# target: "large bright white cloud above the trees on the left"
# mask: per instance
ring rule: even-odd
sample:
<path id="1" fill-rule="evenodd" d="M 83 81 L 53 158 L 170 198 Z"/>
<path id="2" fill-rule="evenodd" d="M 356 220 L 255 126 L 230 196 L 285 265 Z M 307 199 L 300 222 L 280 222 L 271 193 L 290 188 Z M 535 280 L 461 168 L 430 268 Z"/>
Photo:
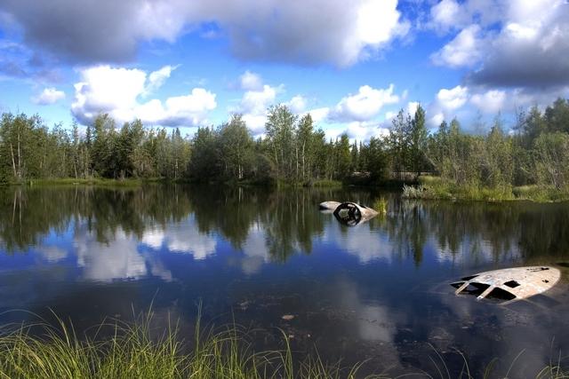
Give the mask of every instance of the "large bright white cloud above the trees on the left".
<path id="1" fill-rule="evenodd" d="M 138 68 L 97 66 L 81 70 L 82 81 L 75 84 L 71 111 L 83 123 L 108 113 L 117 122 L 142 122 L 164 126 L 197 126 L 217 107 L 215 94 L 194 88 L 187 95 L 140 102 L 149 88 L 164 83 L 172 67 L 163 67 L 147 78 Z"/>

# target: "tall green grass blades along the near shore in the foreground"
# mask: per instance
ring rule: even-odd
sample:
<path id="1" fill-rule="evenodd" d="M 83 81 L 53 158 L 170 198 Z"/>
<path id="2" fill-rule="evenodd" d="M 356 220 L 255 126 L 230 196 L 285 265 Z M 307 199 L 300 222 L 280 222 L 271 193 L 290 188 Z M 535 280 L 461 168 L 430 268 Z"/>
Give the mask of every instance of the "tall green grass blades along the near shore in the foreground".
<path id="1" fill-rule="evenodd" d="M 361 365 L 327 365 L 316 353 L 301 362 L 293 361 L 293 352 L 283 334 L 285 347 L 277 351 L 252 350 L 252 343 L 241 328 L 230 326 L 214 331 L 200 327 L 199 319 L 193 341 L 180 340 L 176 325 L 162 331 L 151 328 L 152 313 L 134 323 L 111 320 L 94 329 L 91 337 L 76 336 L 73 327 L 62 320 L 52 327 L 46 323 L 0 331 L 0 378 L 355 378 Z M 38 335 L 32 328 L 40 328 Z M 110 332 L 110 334 L 109 334 Z M 157 332 L 157 333 L 156 333 Z M 105 336 L 102 336 L 105 335 Z M 446 367 L 445 359 L 435 351 L 431 359 L 436 368 L 402 376 L 465 378 L 471 375 L 468 361 L 460 373 Z M 519 354 L 521 355 L 521 353 Z M 519 357 L 518 355 L 518 357 Z M 517 357 L 517 358 L 518 358 Z M 552 362 L 536 378 L 569 378 L 569 373 Z M 483 377 L 508 377 L 493 372 L 493 363 L 485 367 Z M 385 374 L 367 378 L 386 378 Z"/>

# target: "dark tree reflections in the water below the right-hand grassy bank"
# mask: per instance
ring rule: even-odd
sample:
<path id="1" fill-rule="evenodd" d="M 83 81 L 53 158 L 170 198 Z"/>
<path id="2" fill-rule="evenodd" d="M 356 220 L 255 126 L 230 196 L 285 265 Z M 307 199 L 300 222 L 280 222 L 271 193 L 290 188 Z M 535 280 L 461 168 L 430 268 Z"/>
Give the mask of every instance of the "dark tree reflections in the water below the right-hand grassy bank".
<path id="1" fill-rule="evenodd" d="M 412 255 L 417 265 L 433 239 L 452 260 L 467 255 L 480 263 L 509 257 L 567 257 L 569 204 L 404 201 L 393 198 L 381 226 L 395 241 L 395 253 Z"/>

